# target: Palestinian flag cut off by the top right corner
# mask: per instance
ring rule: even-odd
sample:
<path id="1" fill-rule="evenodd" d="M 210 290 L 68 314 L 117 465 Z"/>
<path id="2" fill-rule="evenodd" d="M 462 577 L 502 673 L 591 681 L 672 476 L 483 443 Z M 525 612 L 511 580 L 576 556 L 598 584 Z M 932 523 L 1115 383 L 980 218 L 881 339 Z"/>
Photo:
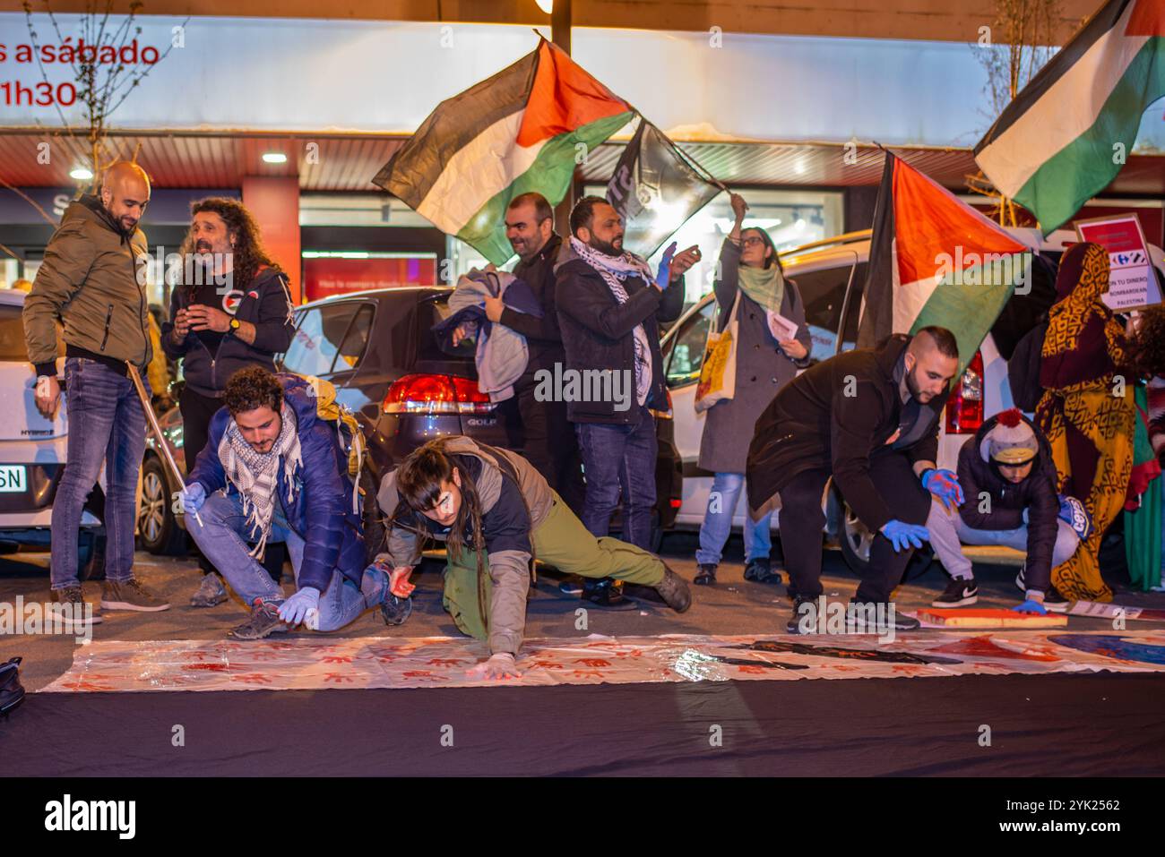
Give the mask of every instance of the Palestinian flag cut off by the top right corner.
<path id="1" fill-rule="evenodd" d="M 1165 95 L 1165 0 L 1109 0 L 975 147 L 991 183 L 1044 234 L 1103 190 Z"/>

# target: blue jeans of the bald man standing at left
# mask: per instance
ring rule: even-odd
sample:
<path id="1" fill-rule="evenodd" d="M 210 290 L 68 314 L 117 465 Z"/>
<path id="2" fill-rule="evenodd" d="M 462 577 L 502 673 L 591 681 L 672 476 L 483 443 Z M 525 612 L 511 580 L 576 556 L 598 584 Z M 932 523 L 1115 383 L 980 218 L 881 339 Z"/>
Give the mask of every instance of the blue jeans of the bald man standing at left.
<path id="1" fill-rule="evenodd" d="M 149 381 L 142 376 L 149 395 Z M 69 441 L 52 498 L 51 586 L 80 586 L 77 550 L 85 500 L 105 461 L 105 576 L 125 581 L 134 568 L 137 473 L 146 452 L 146 413 L 125 374 L 85 357 L 65 360 Z"/>

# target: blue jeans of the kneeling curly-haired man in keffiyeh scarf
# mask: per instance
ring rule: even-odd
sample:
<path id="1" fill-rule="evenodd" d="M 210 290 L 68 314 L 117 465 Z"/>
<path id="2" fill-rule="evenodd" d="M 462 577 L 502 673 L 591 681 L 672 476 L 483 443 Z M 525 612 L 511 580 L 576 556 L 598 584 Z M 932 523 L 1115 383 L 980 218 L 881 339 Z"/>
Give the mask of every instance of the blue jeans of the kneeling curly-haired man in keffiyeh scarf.
<path id="1" fill-rule="evenodd" d="M 248 553 L 247 539 L 250 538 L 250 526 L 242 514 L 242 498 L 239 494 L 214 491 L 198 510 L 198 517 L 203 519 L 200 526 L 198 518 L 193 515 L 186 516 L 186 531 L 235 594 L 248 607 L 254 604 L 255 599 L 282 602 L 283 589 L 271 580 L 263 565 Z M 278 504 L 275 507 L 275 518 L 267 540 L 287 543 L 298 586 L 299 566 L 303 562 L 303 538 L 288 526 Z M 327 590 L 319 595 L 319 630 L 334 631 L 344 628 L 363 612 L 366 607 L 360 588 L 336 569 L 332 572 Z"/>

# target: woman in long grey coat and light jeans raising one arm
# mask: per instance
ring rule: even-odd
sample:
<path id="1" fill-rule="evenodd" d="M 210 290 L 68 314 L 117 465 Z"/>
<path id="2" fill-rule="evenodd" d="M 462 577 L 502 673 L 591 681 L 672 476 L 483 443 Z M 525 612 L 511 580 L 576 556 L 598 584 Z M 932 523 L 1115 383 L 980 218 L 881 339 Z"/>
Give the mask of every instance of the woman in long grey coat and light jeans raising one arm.
<path id="1" fill-rule="evenodd" d="M 732 532 L 733 514 L 744 488 L 744 461 L 753 440 L 753 425 L 777 390 L 791 381 L 798 369 L 809 366 L 811 346 L 805 305 L 797 285 L 785 279 L 772 239 L 764 229 L 741 229 L 747 206 L 735 193 L 732 194 L 732 208 L 736 222 L 720 250 L 715 293 L 720 309 L 716 330 L 728 325 L 733 304 L 740 296 L 736 388 L 732 398 L 718 402 L 707 411 L 700 439 L 699 466 L 715 474 L 700 526 L 700 547 L 696 552 L 699 564 L 696 582 L 701 585 L 715 582 L 716 566 Z M 792 337 L 779 332 L 778 316 L 797 326 Z M 769 512 L 753 520 L 746 511 L 746 580 L 781 580 L 769 566 L 771 517 Z"/>

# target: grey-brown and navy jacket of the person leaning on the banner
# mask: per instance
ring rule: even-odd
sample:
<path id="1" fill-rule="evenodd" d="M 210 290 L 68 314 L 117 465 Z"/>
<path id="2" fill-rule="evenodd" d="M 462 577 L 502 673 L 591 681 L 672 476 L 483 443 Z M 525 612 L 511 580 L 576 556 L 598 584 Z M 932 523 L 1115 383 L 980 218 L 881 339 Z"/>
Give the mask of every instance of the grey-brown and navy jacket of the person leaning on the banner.
<path id="1" fill-rule="evenodd" d="M 509 449 L 452 435 L 446 440 L 445 453 L 473 480 L 481 501 L 481 536 L 493 582 L 489 651 L 517 654 L 525 631 L 525 596 L 534 557 L 531 534 L 550 515 L 553 493 L 529 461 Z M 449 527 L 419 512 L 398 509 L 396 470 L 384 476 L 376 501 L 386 516 L 396 515 L 388 536 L 388 551 L 379 554 L 377 560 L 390 561 L 394 566 L 415 566 L 418 561 L 417 532 L 440 541 L 449 538 Z M 471 532 L 463 534 L 463 544 L 473 544 Z"/>

